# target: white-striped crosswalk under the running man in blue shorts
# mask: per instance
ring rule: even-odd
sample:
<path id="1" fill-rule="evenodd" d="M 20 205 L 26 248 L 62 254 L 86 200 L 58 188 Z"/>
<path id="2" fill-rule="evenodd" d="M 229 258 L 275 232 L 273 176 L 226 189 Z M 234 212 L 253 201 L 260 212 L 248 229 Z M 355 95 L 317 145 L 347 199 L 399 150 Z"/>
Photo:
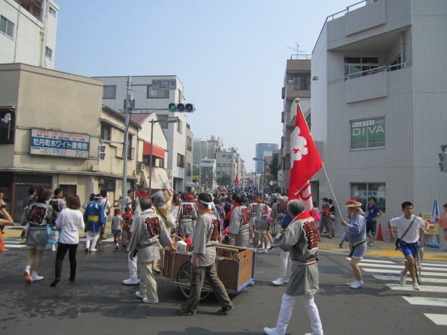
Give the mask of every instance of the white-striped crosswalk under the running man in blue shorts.
<path id="1" fill-rule="evenodd" d="M 348 258 L 349 259 L 349 258 Z M 404 269 L 404 262 L 393 262 L 390 260 L 363 259 L 359 263 L 362 271 L 371 274 L 379 281 L 384 281 L 390 290 L 402 292 L 402 295 L 409 304 L 414 306 L 427 306 L 428 308 L 447 308 L 447 265 L 439 263 L 422 263 L 422 285 L 420 291 L 414 291 L 412 285 L 400 285 L 400 272 Z M 407 275 L 407 283 L 411 281 Z M 413 292 L 414 296 L 409 297 L 408 292 Z M 430 293 L 435 293 L 437 297 L 430 297 Z M 443 297 L 446 297 L 444 298 Z M 442 310 L 444 312 L 444 310 Z M 447 325 L 446 313 L 423 313 L 436 325 Z"/>

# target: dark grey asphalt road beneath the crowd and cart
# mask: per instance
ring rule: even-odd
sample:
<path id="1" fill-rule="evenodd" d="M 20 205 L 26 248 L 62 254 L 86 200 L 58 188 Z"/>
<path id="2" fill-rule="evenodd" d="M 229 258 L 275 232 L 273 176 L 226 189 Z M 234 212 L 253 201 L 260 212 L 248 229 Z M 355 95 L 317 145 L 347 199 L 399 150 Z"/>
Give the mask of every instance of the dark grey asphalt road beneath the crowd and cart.
<path id="1" fill-rule="evenodd" d="M 15 237 L 6 239 L 17 243 Z M 256 255 L 255 285 L 231 296 L 235 309 L 228 315 L 217 315 L 219 304 L 210 297 L 201 301 L 197 315 L 178 316 L 175 311 L 184 303 L 184 297 L 163 276 L 157 275 L 160 303 L 143 304 L 135 297 L 138 286 L 122 285 L 122 280 L 128 278 L 125 251 L 116 251 L 108 242 L 102 251 L 89 255 L 82 249 L 81 245 L 76 281 L 68 281 L 67 255 L 61 282 L 55 288 L 50 288 L 50 283 L 56 253 L 45 251 L 39 271 L 45 278 L 31 285 L 23 279 L 27 248 L 16 245 L 0 254 L 0 334 L 251 335 L 262 334 L 263 327 L 274 327 L 276 323 L 285 286 L 274 287 L 270 281 L 277 278 L 279 251 Z M 345 285 L 352 278 L 346 254 L 322 251 L 320 256 L 321 292 L 316 304 L 326 335 L 446 334 L 447 326 L 437 325 L 424 315 L 446 315 L 446 306 L 412 305 L 403 297 L 445 299 L 447 292 L 428 292 L 428 287 L 420 292 L 392 290 L 386 284 L 397 281 L 383 281 L 366 271 L 365 287 L 352 290 Z M 379 261 L 377 258 L 377 265 L 381 265 Z M 383 269 L 383 274 L 401 269 L 400 261 L 388 259 L 390 270 Z M 447 278 L 436 285 L 447 288 Z M 309 319 L 298 300 L 288 334 L 310 331 Z"/>

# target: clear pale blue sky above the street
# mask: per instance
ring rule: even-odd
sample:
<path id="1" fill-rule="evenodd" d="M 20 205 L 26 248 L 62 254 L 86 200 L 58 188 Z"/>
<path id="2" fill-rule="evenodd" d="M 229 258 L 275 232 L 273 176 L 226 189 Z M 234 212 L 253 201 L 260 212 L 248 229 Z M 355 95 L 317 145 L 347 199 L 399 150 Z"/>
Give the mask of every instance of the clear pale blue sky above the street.
<path id="1" fill-rule="evenodd" d="M 221 137 L 254 171 L 256 143 L 281 147 L 286 61 L 312 54 L 345 0 L 54 0 L 55 70 L 177 75 L 194 138 Z M 124 99 L 124 97 L 123 97 Z"/>

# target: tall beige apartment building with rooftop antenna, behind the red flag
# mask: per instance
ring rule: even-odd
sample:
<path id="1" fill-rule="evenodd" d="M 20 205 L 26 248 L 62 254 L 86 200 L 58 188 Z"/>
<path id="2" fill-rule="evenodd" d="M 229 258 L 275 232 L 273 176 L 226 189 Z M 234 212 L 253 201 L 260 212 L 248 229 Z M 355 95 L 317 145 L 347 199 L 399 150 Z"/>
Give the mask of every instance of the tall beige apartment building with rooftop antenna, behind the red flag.
<path id="1" fill-rule="evenodd" d="M 300 107 L 305 114 L 307 124 L 310 122 L 310 87 L 311 87 L 311 55 L 293 54 L 291 59 L 287 60 L 286 73 L 284 74 L 284 86 L 282 88 L 283 112 L 281 122 L 283 124 L 281 137 L 281 157 L 279 157 L 279 174 L 281 180 L 278 180 L 278 186 L 283 193 L 288 193 L 288 181 L 291 171 L 291 133 L 295 129 L 296 104 L 293 104 L 295 98 L 300 98 Z M 256 156 L 258 157 L 258 156 Z M 260 161 L 256 162 L 256 168 Z M 258 172 L 258 169 L 256 169 Z M 262 173 L 262 172 L 258 172 Z M 313 187 L 314 188 L 314 187 Z M 318 190 L 318 187 L 316 187 Z M 315 193 L 313 191 L 312 193 Z"/>

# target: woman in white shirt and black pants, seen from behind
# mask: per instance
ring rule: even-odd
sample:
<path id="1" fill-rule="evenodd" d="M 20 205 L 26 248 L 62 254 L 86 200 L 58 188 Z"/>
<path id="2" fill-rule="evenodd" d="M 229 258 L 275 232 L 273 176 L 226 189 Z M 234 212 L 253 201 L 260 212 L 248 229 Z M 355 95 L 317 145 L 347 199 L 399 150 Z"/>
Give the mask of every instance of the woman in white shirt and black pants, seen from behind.
<path id="1" fill-rule="evenodd" d="M 76 276 L 76 251 L 78 251 L 79 230 L 84 230 L 85 223 L 80 211 L 81 202 L 78 195 L 70 195 L 66 204 L 67 208 L 62 209 L 56 219 L 57 228 L 61 230 L 61 233 L 56 254 L 56 278 L 54 278 L 50 286 L 56 286 L 61 280 L 62 262 L 64 262 L 67 251 L 68 259 L 70 260 L 70 281 L 74 281 Z"/>

